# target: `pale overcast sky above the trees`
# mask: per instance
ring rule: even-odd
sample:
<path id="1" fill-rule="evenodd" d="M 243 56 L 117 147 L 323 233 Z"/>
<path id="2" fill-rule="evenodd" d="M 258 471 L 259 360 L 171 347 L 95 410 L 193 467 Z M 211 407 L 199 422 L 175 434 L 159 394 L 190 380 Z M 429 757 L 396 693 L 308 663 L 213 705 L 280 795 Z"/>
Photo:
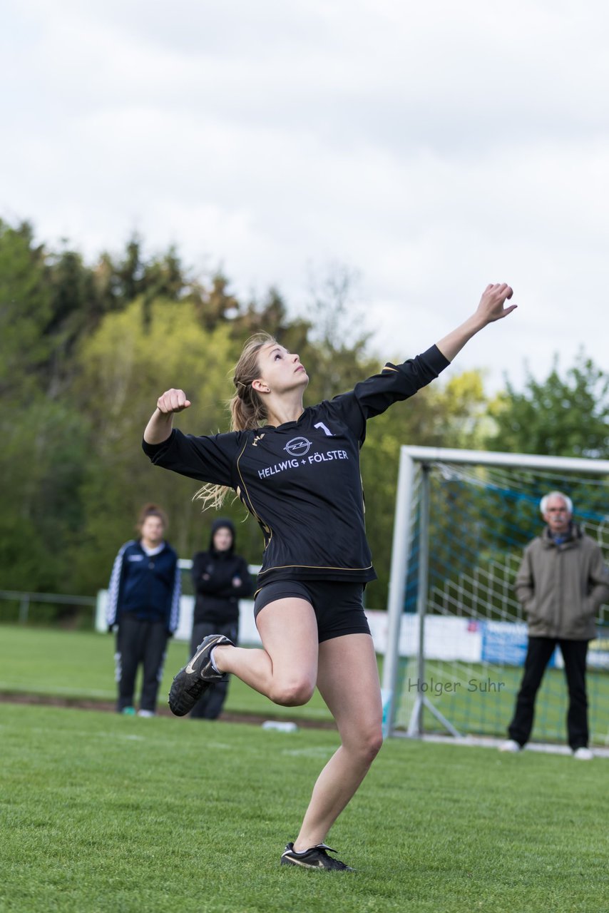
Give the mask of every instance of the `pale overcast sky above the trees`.
<path id="1" fill-rule="evenodd" d="M 0 216 L 92 260 L 133 231 L 306 306 L 358 270 L 373 348 L 413 355 L 488 282 L 519 309 L 460 368 L 607 370 L 601 0 L 5 0 Z M 182 379 L 176 379 L 176 383 Z"/>

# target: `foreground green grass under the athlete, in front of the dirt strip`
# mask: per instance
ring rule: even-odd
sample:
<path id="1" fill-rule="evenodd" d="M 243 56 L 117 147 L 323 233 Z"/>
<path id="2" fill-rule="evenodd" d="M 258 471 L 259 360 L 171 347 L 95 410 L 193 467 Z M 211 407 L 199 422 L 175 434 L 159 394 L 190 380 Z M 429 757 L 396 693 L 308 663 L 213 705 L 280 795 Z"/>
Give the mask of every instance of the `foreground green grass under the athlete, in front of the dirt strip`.
<path id="1" fill-rule="evenodd" d="M 279 866 L 335 732 L 5 704 L 0 744 L 3 913 L 609 908 L 604 761 L 389 740 L 350 874 Z"/>

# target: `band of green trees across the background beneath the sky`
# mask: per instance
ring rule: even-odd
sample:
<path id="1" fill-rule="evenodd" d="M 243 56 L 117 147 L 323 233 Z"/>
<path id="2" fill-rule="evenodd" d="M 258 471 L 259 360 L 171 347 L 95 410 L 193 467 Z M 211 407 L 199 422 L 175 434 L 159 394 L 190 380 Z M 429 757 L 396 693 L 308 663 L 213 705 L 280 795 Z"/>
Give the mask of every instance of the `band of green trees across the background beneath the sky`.
<path id="1" fill-rule="evenodd" d="M 294 316 L 278 289 L 239 299 L 222 272 L 201 278 L 175 247 L 149 256 L 133 236 L 119 255 L 87 263 L 68 244 L 38 243 L 27 222 L 0 221 L 0 589 L 95 593 L 146 501 L 167 510 L 181 557 L 203 548 L 213 518 L 193 502 L 196 484 L 142 454 L 157 395 L 187 389 L 185 432 L 226 430 L 230 371 L 258 330 L 299 352 L 307 402 L 350 389 L 381 363 L 353 320 L 350 283 L 347 270 L 331 269 L 311 289 L 306 316 Z M 581 352 L 571 367 L 557 358 L 545 380 L 529 374 L 521 390 L 506 380 L 492 397 L 482 373 L 453 372 L 376 418 L 362 450 L 380 577 L 368 605 L 386 603 L 402 444 L 606 457 L 608 416 L 609 375 Z M 255 521 L 229 500 L 224 512 L 239 551 L 257 563 Z"/>

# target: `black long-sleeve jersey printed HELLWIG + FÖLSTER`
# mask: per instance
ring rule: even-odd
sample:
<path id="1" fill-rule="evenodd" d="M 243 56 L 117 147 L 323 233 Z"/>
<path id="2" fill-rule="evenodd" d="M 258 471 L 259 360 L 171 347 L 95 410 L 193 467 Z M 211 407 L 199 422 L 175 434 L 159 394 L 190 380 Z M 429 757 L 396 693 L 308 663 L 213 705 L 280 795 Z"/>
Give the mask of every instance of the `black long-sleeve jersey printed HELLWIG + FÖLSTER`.
<path id="1" fill-rule="evenodd" d="M 307 407 L 295 422 L 196 437 L 173 430 L 145 441 L 152 463 L 234 488 L 264 534 L 258 587 L 276 580 L 374 580 L 359 452 L 366 421 L 434 380 L 448 361 L 436 346 Z"/>

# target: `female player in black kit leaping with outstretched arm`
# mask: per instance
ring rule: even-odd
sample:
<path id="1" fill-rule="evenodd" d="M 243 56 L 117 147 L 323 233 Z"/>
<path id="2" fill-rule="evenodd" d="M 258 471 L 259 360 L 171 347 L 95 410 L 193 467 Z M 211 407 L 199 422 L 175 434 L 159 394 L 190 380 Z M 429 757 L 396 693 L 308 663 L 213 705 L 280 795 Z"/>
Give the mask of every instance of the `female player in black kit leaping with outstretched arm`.
<path id="1" fill-rule="evenodd" d="M 516 307 L 505 305 L 511 295 L 506 284 L 489 285 L 475 313 L 427 352 L 308 408 L 299 356 L 258 334 L 236 365 L 233 431 L 173 430 L 173 414 L 190 406 L 175 389 L 159 397 L 146 426 L 143 449 L 153 463 L 207 483 L 201 497 L 215 505 L 235 490 L 265 539 L 255 601 L 262 649 L 205 637 L 173 679 L 173 713 L 183 716 L 210 682 L 232 673 L 288 707 L 306 704 L 317 685 L 336 720 L 341 746 L 315 783 L 283 865 L 349 869 L 323 841 L 382 744 L 376 656 L 362 609 L 363 587 L 376 576 L 359 466 L 366 421 L 430 383 L 475 333 L 507 317 Z"/>

